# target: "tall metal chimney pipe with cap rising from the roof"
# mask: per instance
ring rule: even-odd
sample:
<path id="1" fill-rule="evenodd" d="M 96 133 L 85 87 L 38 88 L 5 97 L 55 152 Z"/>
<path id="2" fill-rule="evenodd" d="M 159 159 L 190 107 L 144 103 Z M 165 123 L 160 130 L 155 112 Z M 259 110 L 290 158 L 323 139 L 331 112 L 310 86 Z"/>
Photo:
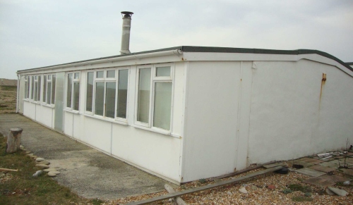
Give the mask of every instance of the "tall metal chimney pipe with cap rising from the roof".
<path id="1" fill-rule="evenodd" d="M 131 15 L 133 15 L 133 13 L 130 11 L 121 11 L 121 15 L 123 16 L 123 32 L 121 35 L 120 54 L 131 54 L 128 47 L 130 46 Z"/>

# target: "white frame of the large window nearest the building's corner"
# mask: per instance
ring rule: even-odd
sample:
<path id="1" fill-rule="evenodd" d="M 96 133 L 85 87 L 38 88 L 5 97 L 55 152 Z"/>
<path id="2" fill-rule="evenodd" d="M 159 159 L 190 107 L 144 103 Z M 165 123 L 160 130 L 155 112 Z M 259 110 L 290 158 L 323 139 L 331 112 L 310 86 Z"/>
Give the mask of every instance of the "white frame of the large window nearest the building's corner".
<path id="1" fill-rule="evenodd" d="M 160 76 L 157 77 L 157 68 L 160 67 L 170 67 L 170 76 Z M 138 91 L 139 91 L 139 82 L 140 82 L 140 69 L 151 68 L 151 77 L 150 77 L 150 106 L 149 106 L 149 115 L 148 123 L 143 123 L 138 121 Z M 171 82 L 172 83 L 172 99 L 171 99 L 171 110 L 170 110 L 170 125 L 169 130 L 164 130 L 163 128 L 157 128 L 154 126 L 154 111 L 155 111 L 155 83 L 156 82 Z M 172 119 L 173 119 L 173 99 L 174 99 L 174 63 L 158 63 L 150 64 L 144 66 L 137 66 L 136 68 L 136 95 L 135 95 L 135 116 L 134 116 L 134 125 L 137 125 L 139 128 L 153 130 L 160 132 L 162 134 L 170 135 L 172 132 Z"/>

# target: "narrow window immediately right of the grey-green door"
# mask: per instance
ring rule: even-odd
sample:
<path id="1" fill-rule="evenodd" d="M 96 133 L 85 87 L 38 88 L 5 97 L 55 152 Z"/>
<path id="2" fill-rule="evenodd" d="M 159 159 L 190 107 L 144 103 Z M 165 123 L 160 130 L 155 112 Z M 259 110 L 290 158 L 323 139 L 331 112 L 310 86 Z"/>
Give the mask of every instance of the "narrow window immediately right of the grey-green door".
<path id="1" fill-rule="evenodd" d="M 78 111 L 80 103 L 80 73 L 68 73 L 66 79 L 66 108 Z"/>

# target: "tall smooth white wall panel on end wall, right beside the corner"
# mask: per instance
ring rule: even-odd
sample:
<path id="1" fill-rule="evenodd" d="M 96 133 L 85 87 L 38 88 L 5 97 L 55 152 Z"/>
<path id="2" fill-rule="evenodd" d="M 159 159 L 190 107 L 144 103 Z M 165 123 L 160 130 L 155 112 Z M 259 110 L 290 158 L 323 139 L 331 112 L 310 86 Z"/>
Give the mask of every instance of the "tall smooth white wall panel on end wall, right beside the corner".
<path id="1" fill-rule="evenodd" d="M 234 171 L 240 62 L 190 62 L 183 182 Z"/>

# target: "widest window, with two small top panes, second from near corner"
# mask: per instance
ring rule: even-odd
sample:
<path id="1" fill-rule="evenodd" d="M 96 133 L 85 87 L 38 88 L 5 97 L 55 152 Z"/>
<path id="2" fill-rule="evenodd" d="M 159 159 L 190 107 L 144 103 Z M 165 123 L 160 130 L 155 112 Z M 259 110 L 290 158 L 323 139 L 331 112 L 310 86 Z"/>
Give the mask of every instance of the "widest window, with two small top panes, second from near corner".
<path id="1" fill-rule="evenodd" d="M 126 119 L 128 69 L 88 72 L 86 87 L 86 112 Z"/>

